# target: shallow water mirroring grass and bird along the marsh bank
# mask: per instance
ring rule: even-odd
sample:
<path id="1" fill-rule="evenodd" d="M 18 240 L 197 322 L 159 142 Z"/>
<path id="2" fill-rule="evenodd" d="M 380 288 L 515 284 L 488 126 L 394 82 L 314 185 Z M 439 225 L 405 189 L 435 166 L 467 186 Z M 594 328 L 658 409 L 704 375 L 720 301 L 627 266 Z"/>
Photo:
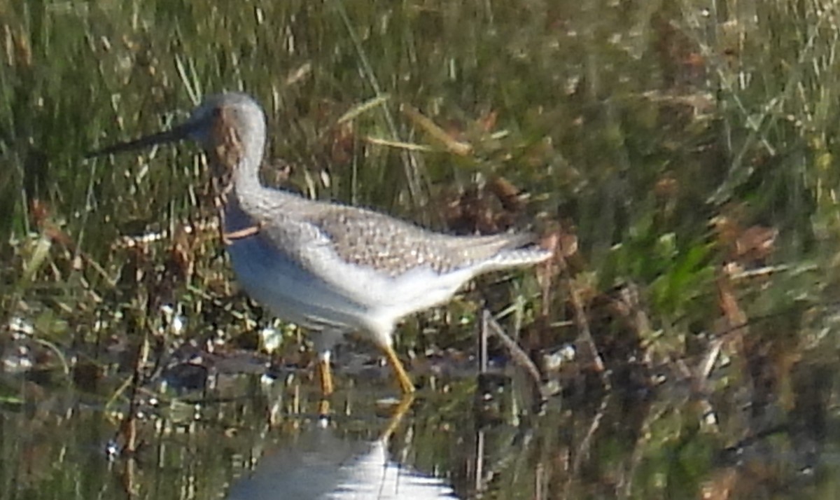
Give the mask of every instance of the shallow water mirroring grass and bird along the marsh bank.
<path id="1" fill-rule="evenodd" d="M 169 403 L 140 397 L 139 445 L 129 455 L 119 452 L 124 414 L 103 411 L 101 399 L 6 379 L 24 400 L 0 413 L 2 497 L 784 497 L 798 488 L 800 496 L 828 498 L 836 491 L 838 434 L 826 420 L 831 409 L 820 406 L 833 396 L 820 388 L 787 413 L 758 415 L 663 386 L 555 396 L 536 414 L 515 394 L 522 380 L 500 380 L 507 388 L 482 405 L 474 383 L 460 380 L 444 392 L 419 392 L 395 414 L 390 387 L 362 380 L 379 388 L 357 389 L 342 378 L 330 417 L 319 418 L 312 386 L 230 376 Z"/>

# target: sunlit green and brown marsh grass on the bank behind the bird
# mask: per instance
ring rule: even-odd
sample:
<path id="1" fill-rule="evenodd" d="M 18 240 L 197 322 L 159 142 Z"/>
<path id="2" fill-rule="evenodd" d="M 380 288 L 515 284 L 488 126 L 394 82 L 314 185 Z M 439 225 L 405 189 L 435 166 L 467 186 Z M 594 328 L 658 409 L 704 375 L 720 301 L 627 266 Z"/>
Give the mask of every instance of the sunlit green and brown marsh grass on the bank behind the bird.
<path id="1" fill-rule="evenodd" d="M 796 311 L 805 306 L 795 301 L 816 303 L 823 287 L 837 287 L 825 250 L 838 229 L 833 7 L 780 0 L 753 13 L 759 7 L 741 2 L 704 16 L 687 1 L 651 5 L 9 3 L 0 37 L 4 319 L 31 318 L 64 346 L 71 335 L 159 334 L 160 305 L 177 302 L 186 334 L 212 335 L 205 325 L 214 324 L 246 343 L 255 314 L 232 295 L 215 230 L 183 229 L 213 220 L 195 150 L 82 160 L 182 118 L 203 93 L 244 89 L 265 104 L 269 156 L 287 162 L 289 182 L 307 196 L 434 227 L 453 213 L 497 229 L 574 224 L 576 275 L 551 283 L 549 317 L 523 333 L 528 349 L 575 338 L 564 292 L 575 287 L 608 367 L 628 351 L 653 363 L 701 356 L 722 311 L 731 327 L 792 309 L 773 322 L 784 330 L 768 336 L 774 345 L 748 337 L 768 365 L 789 366 L 776 353 L 801 350 Z M 465 217 L 461 191 L 497 176 L 528 192 L 524 211 L 508 214 L 479 192 L 470 193 L 475 207 L 491 215 Z M 762 234 L 749 233 L 756 227 L 778 229 L 775 246 L 762 251 L 762 238 L 745 237 Z M 160 239 L 121 243 L 141 234 Z M 727 283 L 723 261 L 793 271 Z M 799 271 L 810 261 L 827 264 L 818 286 Z M 500 297 L 482 292 L 493 305 L 520 304 L 528 327 L 538 288 L 523 276 Z M 641 296 L 632 313 L 617 299 L 630 288 L 611 290 L 627 282 Z M 403 344 L 467 349 L 476 313 L 472 300 L 429 313 L 424 321 L 442 333 L 408 326 Z M 46 326 L 58 318 L 69 327 Z"/>

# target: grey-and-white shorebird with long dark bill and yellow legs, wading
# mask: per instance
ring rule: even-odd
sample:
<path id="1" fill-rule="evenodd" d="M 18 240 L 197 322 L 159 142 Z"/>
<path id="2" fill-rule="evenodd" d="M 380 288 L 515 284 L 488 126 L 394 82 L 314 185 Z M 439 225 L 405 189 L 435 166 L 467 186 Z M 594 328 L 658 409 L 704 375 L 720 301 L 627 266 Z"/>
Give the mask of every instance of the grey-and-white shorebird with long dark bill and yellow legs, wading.
<path id="1" fill-rule="evenodd" d="M 354 331 L 381 349 L 402 393 L 412 393 L 393 349 L 402 318 L 449 302 L 475 276 L 551 256 L 529 234 L 441 234 L 369 209 L 263 186 L 265 113 L 244 93 L 207 97 L 185 123 L 89 156 L 182 139 L 197 141 L 207 155 L 223 243 L 245 292 L 314 333 L 324 395 L 333 392 L 331 350 Z"/>

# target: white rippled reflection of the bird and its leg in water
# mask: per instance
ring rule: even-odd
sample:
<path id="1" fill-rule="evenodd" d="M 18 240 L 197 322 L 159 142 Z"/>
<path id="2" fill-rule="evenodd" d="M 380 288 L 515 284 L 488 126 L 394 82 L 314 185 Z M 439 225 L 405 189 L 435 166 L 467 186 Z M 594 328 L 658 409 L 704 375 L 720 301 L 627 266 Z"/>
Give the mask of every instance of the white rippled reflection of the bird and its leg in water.
<path id="1" fill-rule="evenodd" d="M 410 401 L 396 409 L 379 439 L 342 436 L 311 422 L 281 449 L 260 459 L 255 471 L 230 489 L 228 500 L 457 498 L 443 480 L 402 466 L 388 453 Z"/>

